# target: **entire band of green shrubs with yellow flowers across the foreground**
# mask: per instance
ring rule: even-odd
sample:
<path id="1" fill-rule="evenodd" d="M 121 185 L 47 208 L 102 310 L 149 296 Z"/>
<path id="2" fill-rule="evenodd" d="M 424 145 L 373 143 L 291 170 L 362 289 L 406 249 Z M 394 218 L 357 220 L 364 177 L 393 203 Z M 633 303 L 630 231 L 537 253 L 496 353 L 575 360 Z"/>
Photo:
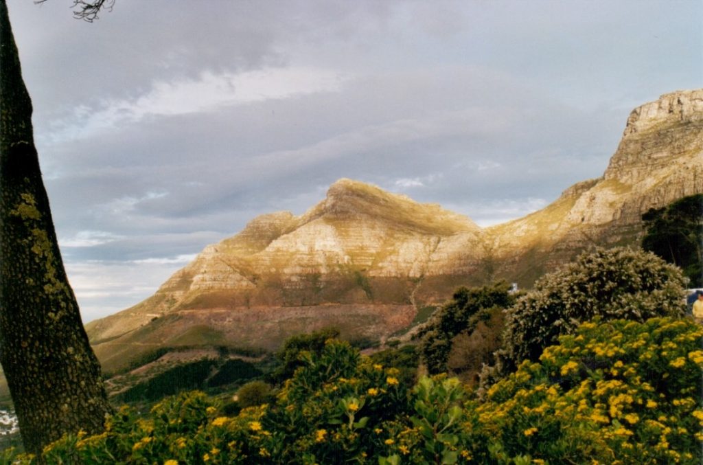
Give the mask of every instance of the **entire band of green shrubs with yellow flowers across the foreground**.
<path id="1" fill-rule="evenodd" d="M 700 462 L 703 329 L 692 321 L 583 324 L 477 400 L 456 378 L 413 388 L 329 340 L 273 405 L 226 416 L 202 393 L 105 433 L 46 448 L 51 464 L 660 464 Z M 6 453 L 6 461 L 13 457 Z M 20 457 L 20 463 L 29 460 Z"/>

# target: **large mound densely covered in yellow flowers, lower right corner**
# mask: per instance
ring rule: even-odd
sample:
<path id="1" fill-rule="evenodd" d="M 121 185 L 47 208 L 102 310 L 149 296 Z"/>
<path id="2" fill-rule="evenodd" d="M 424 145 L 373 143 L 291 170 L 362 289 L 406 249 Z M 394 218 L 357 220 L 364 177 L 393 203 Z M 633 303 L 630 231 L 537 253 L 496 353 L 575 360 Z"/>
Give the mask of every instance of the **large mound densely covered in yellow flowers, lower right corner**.
<path id="1" fill-rule="evenodd" d="M 700 463 L 702 338 L 681 319 L 581 325 L 490 388 L 472 425 L 473 454 Z"/>

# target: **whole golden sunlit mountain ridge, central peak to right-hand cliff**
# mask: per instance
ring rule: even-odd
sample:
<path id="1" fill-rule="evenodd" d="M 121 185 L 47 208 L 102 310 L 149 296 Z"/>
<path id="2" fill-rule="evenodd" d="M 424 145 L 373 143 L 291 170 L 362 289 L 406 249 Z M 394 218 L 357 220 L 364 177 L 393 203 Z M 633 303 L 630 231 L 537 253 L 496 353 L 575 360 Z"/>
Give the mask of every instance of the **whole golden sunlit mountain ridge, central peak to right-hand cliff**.
<path id="1" fill-rule="evenodd" d="M 482 229 L 439 205 L 340 179 L 304 215 L 253 219 L 152 297 L 86 330 L 108 372 L 157 348 L 273 350 L 323 326 L 387 338 L 460 285 L 529 286 L 583 249 L 637 243 L 643 212 L 693 193 L 703 193 L 703 89 L 633 110 L 603 176 L 527 217 Z"/>

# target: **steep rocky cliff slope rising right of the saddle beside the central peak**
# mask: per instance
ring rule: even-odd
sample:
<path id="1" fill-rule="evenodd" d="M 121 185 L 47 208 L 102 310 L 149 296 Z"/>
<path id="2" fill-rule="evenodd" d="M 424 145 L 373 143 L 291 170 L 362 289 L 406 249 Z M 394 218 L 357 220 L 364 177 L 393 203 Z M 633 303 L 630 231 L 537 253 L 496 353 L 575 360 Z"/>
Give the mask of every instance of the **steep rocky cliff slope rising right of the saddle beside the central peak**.
<path id="1" fill-rule="evenodd" d="M 586 248 L 636 243 L 644 212 L 701 192 L 703 89 L 677 91 L 632 111 L 602 177 L 486 236 L 499 274 L 529 285 Z"/>

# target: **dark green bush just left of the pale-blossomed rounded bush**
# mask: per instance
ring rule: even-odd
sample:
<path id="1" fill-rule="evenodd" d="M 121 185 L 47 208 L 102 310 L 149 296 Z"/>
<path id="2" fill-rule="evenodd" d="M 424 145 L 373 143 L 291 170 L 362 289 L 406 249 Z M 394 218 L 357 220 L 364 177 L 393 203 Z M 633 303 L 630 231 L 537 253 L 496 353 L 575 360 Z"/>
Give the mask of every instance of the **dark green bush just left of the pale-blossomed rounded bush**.
<path id="1" fill-rule="evenodd" d="M 515 298 L 505 281 L 479 288 L 459 288 L 418 332 L 420 353 L 430 374 L 447 371 L 452 340 L 460 333 L 470 335 L 481 321 L 489 321 L 496 309 L 510 307 Z"/>

